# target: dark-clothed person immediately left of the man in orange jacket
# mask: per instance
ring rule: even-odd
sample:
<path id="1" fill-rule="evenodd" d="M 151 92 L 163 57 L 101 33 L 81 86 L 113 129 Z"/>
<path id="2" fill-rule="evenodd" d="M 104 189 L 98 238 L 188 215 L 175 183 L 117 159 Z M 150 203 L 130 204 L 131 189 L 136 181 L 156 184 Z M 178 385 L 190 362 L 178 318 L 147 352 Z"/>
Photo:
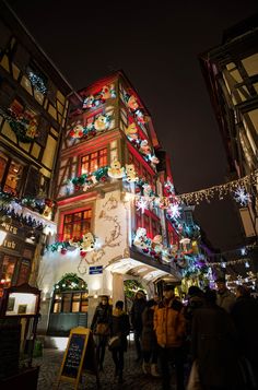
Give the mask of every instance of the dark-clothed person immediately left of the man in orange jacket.
<path id="1" fill-rule="evenodd" d="M 153 322 L 156 305 L 154 299 L 148 300 L 146 307 L 142 312 L 142 370 L 153 377 L 160 377 L 157 371 L 157 342 Z"/>

